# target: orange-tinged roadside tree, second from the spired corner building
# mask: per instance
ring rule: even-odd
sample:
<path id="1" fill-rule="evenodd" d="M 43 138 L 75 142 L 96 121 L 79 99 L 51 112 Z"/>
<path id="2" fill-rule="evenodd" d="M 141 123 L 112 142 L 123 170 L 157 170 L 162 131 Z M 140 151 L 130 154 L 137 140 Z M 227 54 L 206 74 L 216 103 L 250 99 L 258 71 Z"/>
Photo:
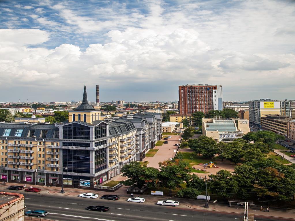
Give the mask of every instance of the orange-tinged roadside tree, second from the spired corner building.
<path id="1" fill-rule="evenodd" d="M 173 158 L 171 161 L 159 162 L 159 166 L 158 180 L 160 186 L 169 188 L 170 193 L 172 189 L 175 189 L 187 180 L 190 172 L 189 163 L 176 158 Z"/>

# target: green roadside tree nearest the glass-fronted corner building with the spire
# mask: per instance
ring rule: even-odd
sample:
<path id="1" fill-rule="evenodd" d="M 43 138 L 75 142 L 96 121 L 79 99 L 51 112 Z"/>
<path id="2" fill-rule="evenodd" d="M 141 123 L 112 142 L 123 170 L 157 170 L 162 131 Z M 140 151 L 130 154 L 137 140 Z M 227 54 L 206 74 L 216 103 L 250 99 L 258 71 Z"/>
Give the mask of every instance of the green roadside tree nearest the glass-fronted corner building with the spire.
<path id="1" fill-rule="evenodd" d="M 128 177 L 127 180 L 121 182 L 122 184 L 126 186 L 134 185 L 138 188 L 142 188 L 144 185 L 155 186 L 159 173 L 157 169 L 142 166 L 138 161 L 126 164 L 122 167 L 121 172 L 124 177 Z"/>

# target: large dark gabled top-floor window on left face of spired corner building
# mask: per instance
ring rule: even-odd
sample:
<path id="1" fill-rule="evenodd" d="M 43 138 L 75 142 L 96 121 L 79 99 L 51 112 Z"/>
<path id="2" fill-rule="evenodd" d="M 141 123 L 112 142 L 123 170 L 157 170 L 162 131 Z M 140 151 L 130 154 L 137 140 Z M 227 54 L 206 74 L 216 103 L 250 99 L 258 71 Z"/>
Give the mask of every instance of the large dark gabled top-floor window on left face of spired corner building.
<path id="1" fill-rule="evenodd" d="M 63 127 L 63 139 L 90 139 L 90 128 L 80 124 L 70 124 Z"/>

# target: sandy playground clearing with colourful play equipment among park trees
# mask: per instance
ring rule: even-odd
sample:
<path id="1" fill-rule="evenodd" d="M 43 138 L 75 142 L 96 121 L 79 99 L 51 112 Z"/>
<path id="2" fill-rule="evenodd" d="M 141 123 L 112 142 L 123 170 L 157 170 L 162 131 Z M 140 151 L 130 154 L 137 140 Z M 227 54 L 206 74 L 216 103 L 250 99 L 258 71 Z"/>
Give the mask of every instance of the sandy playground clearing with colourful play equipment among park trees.
<path id="1" fill-rule="evenodd" d="M 217 163 L 212 161 L 205 164 L 199 163 L 194 165 L 193 168 L 196 170 L 207 171 L 211 174 L 216 174 L 219 170 L 228 170 L 231 172 L 234 171 L 234 165 L 228 160 L 220 160 Z"/>

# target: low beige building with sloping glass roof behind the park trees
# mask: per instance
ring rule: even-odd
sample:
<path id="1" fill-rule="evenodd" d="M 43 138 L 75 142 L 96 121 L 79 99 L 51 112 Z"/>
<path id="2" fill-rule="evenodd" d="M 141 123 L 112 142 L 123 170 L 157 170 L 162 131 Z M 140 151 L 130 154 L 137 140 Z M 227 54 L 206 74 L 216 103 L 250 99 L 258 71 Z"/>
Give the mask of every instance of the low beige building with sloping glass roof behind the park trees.
<path id="1" fill-rule="evenodd" d="M 216 142 L 232 142 L 250 132 L 249 121 L 239 118 L 203 118 L 202 128 Z"/>

